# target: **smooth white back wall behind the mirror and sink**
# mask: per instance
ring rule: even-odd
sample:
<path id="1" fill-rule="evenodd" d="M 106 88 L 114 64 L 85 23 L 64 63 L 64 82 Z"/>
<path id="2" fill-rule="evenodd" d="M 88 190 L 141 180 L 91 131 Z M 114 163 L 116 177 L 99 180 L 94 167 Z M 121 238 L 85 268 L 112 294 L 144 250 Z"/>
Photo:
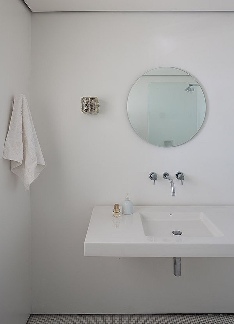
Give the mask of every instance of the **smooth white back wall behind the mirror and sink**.
<path id="1" fill-rule="evenodd" d="M 172 259 L 83 247 L 93 206 L 125 192 L 135 205 L 234 203 L 233 29 L 234 13 L 32 14 L 32 116 L 47 162 L 31 189 L 34 313 L 234 312 L 234 259 L 182 259 L 176 278 Z M 132 84 L 160 66 L 205 91 L 205 122 L 177 147 L 150 145 L 128 121 Z M 83 96 L 100 98 L 99 115 L 80 112 Z"/>

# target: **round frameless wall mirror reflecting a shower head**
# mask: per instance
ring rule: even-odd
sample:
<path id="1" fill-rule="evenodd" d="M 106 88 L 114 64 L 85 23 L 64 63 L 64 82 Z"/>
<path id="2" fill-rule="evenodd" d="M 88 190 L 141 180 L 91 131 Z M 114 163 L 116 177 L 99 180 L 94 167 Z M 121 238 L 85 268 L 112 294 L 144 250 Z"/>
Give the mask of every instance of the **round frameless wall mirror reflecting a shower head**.
<path id="1" fill-rule="evenodd" d="M 127 103 L 135 132 L 157 146 L 177 146 L 201 128 L 206 100 L 198 82 L 174 67 L 159 67 L 141 75 Z"/>

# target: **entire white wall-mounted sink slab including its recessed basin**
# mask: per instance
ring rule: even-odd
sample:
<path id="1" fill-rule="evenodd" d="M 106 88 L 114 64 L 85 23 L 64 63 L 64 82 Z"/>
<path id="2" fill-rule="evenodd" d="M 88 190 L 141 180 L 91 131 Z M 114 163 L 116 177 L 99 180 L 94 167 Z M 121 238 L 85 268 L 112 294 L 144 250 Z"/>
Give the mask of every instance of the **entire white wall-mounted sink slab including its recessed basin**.
<path id="1" fill-rule="evenodd" d="M 113 206 L 96 206 L 84 255 L 234 257 L 233 233 L 233 206 L 134 206 L 132 215 L 119 218 Z"/>

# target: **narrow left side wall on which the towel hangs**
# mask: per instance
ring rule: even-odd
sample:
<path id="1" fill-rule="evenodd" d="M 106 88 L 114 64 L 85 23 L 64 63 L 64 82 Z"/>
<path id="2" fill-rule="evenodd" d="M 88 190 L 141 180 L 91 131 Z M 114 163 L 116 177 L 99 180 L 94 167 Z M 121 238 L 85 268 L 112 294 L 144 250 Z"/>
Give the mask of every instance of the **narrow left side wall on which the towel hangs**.
<path id="1" fill-rule="evenodd" d="M 11 116 L 11 100 L 30 98 L 30 11 L 20 0 L 0 4 L 0 140 L 4 142 Z M 31 312 L 30 193 L 0 159 L 0 322 L 25 324 Z"/>

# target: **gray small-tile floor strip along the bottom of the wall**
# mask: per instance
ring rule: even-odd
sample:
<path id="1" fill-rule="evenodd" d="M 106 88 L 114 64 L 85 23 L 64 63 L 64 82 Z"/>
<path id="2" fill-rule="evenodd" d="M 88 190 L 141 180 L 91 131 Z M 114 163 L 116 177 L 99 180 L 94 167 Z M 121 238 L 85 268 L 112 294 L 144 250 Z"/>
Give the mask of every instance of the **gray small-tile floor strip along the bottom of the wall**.
<path id="1" fill-rule="evenodd" d="M 33 314 L 27 324 L 234 324 L 234 314 Z"/>

